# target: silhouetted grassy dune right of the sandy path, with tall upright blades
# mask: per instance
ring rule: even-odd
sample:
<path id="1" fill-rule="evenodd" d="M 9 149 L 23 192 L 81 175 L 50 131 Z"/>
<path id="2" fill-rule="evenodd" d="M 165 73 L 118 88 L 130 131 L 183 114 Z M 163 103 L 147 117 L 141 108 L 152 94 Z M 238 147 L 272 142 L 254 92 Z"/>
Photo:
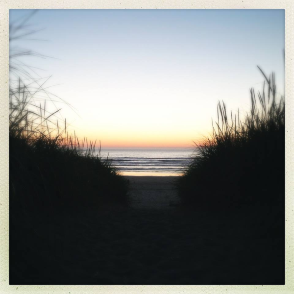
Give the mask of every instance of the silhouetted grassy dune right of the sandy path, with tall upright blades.
<path id="1" fill-rule="evenodd" d="M 179 177 L 183 204 L 281 204 L 285 197 L 285 99 L 277 98 L 274 73 L 263 91 L 250 90 L 251 110 L 240 118 L 218 103 L 218 122 L 211 138 L 196 145 L 193 158 Z"/>

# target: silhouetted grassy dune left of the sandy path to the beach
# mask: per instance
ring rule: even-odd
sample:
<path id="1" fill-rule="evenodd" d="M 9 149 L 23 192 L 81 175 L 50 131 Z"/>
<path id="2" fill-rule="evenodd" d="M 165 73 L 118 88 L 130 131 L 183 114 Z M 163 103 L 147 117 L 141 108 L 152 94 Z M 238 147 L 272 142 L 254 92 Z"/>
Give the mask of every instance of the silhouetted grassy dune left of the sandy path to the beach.
<path id="1" fill-rule="evenodd" d="M 10 208 L 73 209 L 127 201 L 127 183 L 95 142 L 69 135 L 21 79 L 10 89 Z"/>

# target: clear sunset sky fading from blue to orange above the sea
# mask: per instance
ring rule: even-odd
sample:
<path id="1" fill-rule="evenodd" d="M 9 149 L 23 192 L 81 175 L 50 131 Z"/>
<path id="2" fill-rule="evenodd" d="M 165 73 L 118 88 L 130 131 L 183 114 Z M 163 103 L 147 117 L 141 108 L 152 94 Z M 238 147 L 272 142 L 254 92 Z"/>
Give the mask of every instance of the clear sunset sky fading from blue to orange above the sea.
<path id="1" fill-rule="evenodd" d="M 31 12 L 11 9 L 10 25 Z M 48 9 L 26 25 L 35 32 L 10 49 L 49 56 L 19 62 L 50 76 L 45 86 L 74 108 L 56 102 L 62 119 L 103 147 L 191 147 L 211 134 L 219 100 L 249 110 L 257 66 L 285 92 L 284 10 Z"/>

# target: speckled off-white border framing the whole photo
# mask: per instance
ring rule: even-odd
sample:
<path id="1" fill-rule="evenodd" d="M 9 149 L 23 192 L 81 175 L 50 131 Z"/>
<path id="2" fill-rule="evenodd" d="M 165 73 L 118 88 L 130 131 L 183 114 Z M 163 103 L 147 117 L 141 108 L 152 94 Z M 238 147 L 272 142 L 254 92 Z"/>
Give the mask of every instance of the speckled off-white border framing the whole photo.
<path id="1" fill-rule="evenodd" d="M 284 286 L 10 286 L 8 279 L 9 9 L 285 9 L 286 284 Z M 294 293 L 294 2 L 291 0 L 0 0 L 0 293 Z"/>

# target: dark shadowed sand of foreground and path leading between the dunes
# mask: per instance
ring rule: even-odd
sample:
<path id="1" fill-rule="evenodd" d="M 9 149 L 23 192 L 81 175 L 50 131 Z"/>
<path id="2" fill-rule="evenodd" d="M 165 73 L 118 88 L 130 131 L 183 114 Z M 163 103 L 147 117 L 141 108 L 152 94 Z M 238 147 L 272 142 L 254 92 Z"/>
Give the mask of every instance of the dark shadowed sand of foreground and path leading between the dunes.
<path id="1" fill-rule="evenodd" d="M 264 220 L 260 208 L 180 208 L 175 177 L 128 179 L 128 207 L 40 220 L 33 229 L 22 223 L 11 235 L 10 283 L 284 283 L 281 221 Z M 263 210 L 272 215 L 270 208 Z"/>

